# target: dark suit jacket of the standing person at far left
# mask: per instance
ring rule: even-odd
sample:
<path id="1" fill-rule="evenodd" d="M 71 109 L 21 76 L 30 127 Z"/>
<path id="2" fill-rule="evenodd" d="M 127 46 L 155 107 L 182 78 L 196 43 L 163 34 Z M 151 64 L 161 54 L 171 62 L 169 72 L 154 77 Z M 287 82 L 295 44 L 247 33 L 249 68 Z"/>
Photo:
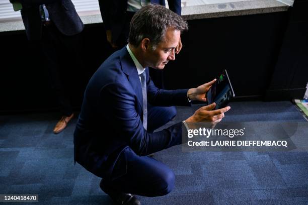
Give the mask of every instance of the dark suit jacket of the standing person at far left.
<path id="1" fill-rule="evenodd" d="M 40 40 L 42 37 L 42 21 L 39 5 L 45 4 L 51 21 L 66 36 L 79 34 L 84 24 L 70 0 L 20 0 L 23 9 L 21 15 L 29 40 Z"/>

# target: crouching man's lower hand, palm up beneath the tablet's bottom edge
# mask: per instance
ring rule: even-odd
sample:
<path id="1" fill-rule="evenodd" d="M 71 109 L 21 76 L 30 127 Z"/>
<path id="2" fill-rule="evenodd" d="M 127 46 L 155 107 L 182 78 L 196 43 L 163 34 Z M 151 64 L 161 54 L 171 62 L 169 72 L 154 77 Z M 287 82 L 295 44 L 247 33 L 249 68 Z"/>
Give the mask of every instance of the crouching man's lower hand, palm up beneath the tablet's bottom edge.
<path id="1" fill-rule="evenodd" d="M 224 118 L 224 113 L 230 110 L 230 107 L 221 108 L 218 110 L 213 110 L 216 104 L 213 102 L 211 105 L 199 108 L 191 117 L 189 117 L 185 122 L 195 123 L 195 122 L 219 122 Z"/>

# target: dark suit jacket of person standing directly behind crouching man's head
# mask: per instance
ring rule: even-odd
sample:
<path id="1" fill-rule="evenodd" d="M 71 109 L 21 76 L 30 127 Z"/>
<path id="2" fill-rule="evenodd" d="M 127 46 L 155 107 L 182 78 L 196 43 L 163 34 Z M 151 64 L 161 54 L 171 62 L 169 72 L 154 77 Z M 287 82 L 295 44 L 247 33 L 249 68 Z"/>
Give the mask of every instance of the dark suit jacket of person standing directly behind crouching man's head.
<path id="1" fill-rule="evenodd" d="M 165 0 L 150 0 L 151 4 L 166 6 Z M 127 0 L 99 0 L 101 15 L 106 30 L 111 30 L 112 39 L 118 39 L 125 23 Z M 169 9 L 181 16 L 181 0 L 168 0 Z"/>

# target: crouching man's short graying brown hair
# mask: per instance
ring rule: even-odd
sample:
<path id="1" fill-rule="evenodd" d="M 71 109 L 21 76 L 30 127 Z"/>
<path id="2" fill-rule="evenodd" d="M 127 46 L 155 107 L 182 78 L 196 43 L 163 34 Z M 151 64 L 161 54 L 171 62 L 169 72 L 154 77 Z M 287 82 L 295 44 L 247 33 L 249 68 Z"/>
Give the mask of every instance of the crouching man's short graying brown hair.
<path id="1" fill-rule="evenodd" d="M 164 40 L 168 27 L 181 32 L 188 30 L 187 23 L 164 6 L 149 4 L 142 7 L 130 22 L 128 42 L 134 47 L 139 46 L 142 39 L 148 38 L 152 49 Z"/>

